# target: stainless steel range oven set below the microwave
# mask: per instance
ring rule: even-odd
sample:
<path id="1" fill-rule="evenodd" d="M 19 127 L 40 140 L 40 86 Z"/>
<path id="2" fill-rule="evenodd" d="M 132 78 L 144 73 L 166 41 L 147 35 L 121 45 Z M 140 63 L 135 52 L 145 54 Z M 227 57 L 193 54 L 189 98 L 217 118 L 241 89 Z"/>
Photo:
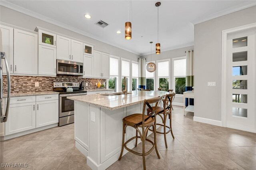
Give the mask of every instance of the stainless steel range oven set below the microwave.
<path id="1" fill-rule="evenodd" d="M 74 123 L 74 101 L 67 99 L 69 96 L 86 95 L 87 91 L 79 90 L 79 83 L 55 82 L 53 91 L 59 95 L 59 126 Z"/>

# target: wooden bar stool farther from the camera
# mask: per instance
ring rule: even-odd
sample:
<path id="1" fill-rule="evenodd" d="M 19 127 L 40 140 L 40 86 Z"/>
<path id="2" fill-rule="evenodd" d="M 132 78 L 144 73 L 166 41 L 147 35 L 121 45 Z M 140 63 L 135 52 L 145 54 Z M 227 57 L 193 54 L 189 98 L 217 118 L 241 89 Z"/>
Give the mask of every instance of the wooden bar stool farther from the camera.
<path id="1" fill-rule="evenodd" d="M 156 131 L 156 133 L 164 134 L 164 142 L 165 142 L 166 148 L 168 148 L 167 141 L 166 141 L 166 134 L 171 132 L 172 138 L 174 138 L 174 135 L 172 133 L 172 110 L 171 110 L 171 107 L 172 107 L 172 100 L 175 97 L 175 95 L 176 95 L 176 93 L 170 93 L 164 97 L 164 107 L 158 107 L 158 106 L 152 107 L 152 109 L 156 112 L 156 115 L 159 115 L 162 119 L 163 124 L 157 123 L 156 125 L 160 125 L 160 126 L 164 127 L 164 132 Z M 148 115 L 150 115 L 150 113 L 152 112 L 150 108 L 148 108 L 147 111 L 148 111 Z M 170 119 L 170 127 L 166 126 L 167 116 L 169 116 L 169 119 Z M 168 128 L 167 132 L 166 132 L 166 128 Z M 151 129 L 149 129 L 149 130 L 152 131 Z"/>

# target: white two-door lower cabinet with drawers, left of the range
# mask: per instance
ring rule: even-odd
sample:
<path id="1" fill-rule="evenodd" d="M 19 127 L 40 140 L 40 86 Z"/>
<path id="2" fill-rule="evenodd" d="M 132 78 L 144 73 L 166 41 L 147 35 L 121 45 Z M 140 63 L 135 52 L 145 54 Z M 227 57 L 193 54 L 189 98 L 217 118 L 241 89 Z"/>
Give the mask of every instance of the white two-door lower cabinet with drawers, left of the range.
<path id="1" fill-rule="evenodd" d="M 5 135 L 58 123 L 58 95 L 11 97 Z"/>

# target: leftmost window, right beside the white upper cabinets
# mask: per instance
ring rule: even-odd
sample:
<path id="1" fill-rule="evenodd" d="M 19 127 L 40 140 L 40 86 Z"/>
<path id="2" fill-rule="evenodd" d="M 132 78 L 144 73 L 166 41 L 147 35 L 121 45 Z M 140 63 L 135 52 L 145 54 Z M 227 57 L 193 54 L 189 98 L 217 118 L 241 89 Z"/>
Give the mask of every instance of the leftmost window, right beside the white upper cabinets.
<path id="1" fill-rule="evenodd" d="M 118 91 L 118 73 L 119 73 L 119 59 L 110 57 L 110 77 L 108 79 L 108 88 L 116 89 Z"/>

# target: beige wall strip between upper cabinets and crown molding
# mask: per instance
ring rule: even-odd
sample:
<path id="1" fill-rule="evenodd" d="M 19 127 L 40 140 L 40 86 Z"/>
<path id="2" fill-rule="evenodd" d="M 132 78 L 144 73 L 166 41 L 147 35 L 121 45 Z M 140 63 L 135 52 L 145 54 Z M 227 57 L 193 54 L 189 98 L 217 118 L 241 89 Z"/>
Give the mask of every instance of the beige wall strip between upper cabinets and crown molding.
<path id="1" fill-rule="evenodd" d="M 22 14 L 20 12 L 11 10 L 9 8 L 6 8 L 4 6 L 0 6 L 0 21 L 5 22 L 8 24 L 12 24 L 14 26 L 19 26 L 21 28 L 26 28 L 28 30 L 34 31 L 36 26 L 40 26 L 42 28 L 46 28 L 48 30 L 52 30 L 54 32 L 58 32 L 60 34 L 64 34 L 70 37 L 74 37 L 89 43 L 95 44 L 94 48 L 100 49 L 102 51 L 106 51 L 111 53 L 112 55 L 116 55 L 119 57 L 131 59 L 133 61 L 138 61 L 139 55 L 136 55 L 134 53 L 128 52 L 124 49 L 120 49 L 118 47 L 114 47 L 112 45 L 109 45 L 107 43 L 100 42 L 98 40 L 94 40 L 92 38 L 83 36 L 81 34 L 72 32 L 70 30 L 67 30 L 65 28 L 61 28 L 59 26 L 56 26 L 54 24 L 50 24 L 48 22 L 44 22 L 42 20 L 39 20 L 37 18 L 28 16 L 26 14 Z"/>

